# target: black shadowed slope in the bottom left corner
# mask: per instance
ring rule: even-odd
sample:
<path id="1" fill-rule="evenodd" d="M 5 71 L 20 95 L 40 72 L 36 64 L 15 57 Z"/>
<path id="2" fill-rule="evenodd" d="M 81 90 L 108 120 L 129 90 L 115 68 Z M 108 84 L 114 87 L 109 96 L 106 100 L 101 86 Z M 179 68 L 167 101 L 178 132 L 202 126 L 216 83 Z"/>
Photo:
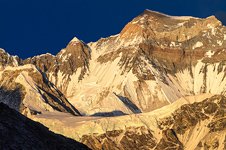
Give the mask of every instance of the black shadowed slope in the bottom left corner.
<path id="1" fill-rule="evenodd" d="M 0 149 L 86 150 L 85 145 L 55 134 L 0 103 Z"/>

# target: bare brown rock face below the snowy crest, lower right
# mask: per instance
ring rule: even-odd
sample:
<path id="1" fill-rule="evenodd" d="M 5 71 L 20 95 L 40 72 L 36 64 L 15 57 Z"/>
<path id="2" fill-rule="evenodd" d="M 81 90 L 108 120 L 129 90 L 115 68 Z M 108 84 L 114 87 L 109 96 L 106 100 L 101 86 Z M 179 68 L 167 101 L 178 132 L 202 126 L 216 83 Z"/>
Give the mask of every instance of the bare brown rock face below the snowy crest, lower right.
<path id="1" fill-rule="evenodd" d="M 127 127 L 104 134 L 83 135 L 92 149 L 222 149 L 226 136 L 226 97 L 216 95 L 182 105 L 169 117 L 157 119 L 158 129 Z M 189 144 L 190 142 L 190 144 Z"/>

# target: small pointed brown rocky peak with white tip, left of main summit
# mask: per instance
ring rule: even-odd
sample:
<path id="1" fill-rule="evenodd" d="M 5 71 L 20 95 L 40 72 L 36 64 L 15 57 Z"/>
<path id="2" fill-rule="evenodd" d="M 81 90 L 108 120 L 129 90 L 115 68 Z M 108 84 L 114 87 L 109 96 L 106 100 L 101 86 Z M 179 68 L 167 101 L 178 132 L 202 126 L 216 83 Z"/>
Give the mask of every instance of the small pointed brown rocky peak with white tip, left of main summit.
<path id="1" fill-rule="evenodd" d="M 82 80 L 89 69 L 91 49 L 76 37 L 56 56 L 49 53 L 24 60 L 24 64 L 34 64 L 45 72 L 58 89 L 67 94 L 72 79 Z"/>

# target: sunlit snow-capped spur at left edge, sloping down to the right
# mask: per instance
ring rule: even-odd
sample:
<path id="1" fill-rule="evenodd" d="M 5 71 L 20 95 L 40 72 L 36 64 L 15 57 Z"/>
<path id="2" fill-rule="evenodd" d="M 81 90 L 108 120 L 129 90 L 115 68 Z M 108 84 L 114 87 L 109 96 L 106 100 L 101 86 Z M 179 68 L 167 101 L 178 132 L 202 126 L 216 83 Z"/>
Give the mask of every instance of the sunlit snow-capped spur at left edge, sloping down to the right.
<path id="1" fill-rule="evenodd" d="M 45 111 L 80 115 L 67 98 L 51 83 L 45 73 L 34 65 L 19 65 L 20 59 L 3 50 L 0 64 L 0 102 L 29 116 Z"/>

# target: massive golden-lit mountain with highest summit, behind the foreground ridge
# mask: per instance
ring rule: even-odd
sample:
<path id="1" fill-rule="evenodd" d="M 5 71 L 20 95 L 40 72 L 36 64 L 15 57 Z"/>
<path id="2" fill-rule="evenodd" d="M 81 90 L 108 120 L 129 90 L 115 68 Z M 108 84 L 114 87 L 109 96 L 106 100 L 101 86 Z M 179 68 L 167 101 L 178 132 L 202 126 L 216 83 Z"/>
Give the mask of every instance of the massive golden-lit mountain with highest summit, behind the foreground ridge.
<path id="1" fill-rule="evenodd" d="M 224 94 L 226 28 L 214 16 L 145 10 L 115 36 L 74 38 L 56 56 L 28 58 L 83 115 L 149 112 L 202 93 Z M 216 88 L 217 87 L 217 88 Z"/>

